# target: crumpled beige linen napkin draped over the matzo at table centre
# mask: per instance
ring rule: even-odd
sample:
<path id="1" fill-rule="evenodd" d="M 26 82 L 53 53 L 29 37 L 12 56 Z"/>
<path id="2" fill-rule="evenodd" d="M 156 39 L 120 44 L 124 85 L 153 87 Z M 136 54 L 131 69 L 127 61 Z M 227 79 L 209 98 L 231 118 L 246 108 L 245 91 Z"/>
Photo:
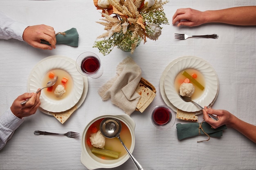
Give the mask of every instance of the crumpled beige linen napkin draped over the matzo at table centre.
<path id="1" fill-rule="evenodd" d="M 136 88 L 140 79 L 141 69 L 131 57 L 126 57 L 117 66 L 117 75 L 99 88 L 99 95 L 103 101 L 111 98 L 112 104 L 131 115 L 139 102 L 140 95 Z"/>

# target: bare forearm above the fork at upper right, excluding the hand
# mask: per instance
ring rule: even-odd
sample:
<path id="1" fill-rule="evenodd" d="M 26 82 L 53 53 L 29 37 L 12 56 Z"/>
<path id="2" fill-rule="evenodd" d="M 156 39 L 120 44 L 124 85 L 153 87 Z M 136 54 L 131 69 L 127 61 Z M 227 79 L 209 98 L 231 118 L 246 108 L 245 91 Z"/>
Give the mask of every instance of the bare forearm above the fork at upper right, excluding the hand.
<path id="1" fill-rule="evenodd" d="M 234 25 L 256 25 L 256 6 L 234 7 L 203 12 L 205 23 L 220 22 Z"/>

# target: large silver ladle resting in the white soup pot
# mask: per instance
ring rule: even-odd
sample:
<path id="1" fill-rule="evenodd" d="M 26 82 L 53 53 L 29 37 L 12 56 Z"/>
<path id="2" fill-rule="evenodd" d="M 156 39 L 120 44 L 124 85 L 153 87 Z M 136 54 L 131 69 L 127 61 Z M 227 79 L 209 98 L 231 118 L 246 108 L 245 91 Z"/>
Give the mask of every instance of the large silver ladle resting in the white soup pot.
<path id="1" fill-rule="evenodd" d="M 121 144 L 124 146 L 125 150 L 127 151 L 135 166 L 137 166 L 138 170 L 144 170 L 142 166 L 139 164 L 139 162 L 135 159 L 135 157 L 133 157 L 130 151 L 126 148 L 124 142 L 121 140 L 121 129 L 121 122 L 118 119 L 114 118 L 105 118 L 101 121 L 100 124 L 101 134 L 107 138 L 117 137 L 120 140 Z"/>

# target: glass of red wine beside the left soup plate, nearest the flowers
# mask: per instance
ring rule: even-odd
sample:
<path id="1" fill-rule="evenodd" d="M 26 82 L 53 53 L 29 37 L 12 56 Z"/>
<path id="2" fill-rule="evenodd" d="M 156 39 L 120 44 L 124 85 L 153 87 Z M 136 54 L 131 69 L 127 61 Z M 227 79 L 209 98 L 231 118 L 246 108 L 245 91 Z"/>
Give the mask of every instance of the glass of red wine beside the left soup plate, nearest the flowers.
<path id="1" fill-rule="evenodd" d="M 94 79 L 101 77 L 103 70 L 101 60 L 98 55 L 85 52 L 76 59 L 76 69 L 81 75 L 89 76 Z"/>

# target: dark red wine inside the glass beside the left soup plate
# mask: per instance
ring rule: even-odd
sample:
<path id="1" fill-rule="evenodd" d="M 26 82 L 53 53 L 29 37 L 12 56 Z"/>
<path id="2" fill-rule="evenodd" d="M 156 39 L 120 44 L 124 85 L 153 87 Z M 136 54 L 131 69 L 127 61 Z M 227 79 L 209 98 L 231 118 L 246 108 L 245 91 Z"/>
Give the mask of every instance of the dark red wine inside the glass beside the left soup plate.
<path id="1" fill-rule="evenodd" d="M 99 70 L 100 62 L 94 56 L 85 57 L 81 64 L 81 69 L 86 74 L 94 74 Z"/>

